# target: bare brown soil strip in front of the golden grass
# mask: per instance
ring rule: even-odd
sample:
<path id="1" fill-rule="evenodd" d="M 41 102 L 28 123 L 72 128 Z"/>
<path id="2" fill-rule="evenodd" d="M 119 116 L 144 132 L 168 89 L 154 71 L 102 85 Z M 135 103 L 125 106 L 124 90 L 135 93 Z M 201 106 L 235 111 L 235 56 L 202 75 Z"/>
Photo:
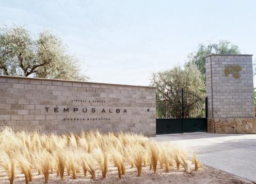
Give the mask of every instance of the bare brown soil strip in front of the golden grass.
<path id="1" fill-rule="evenodd" d="M 81 173 L 77 174 L 76 179 L 72 179 L 72 176 L 68 176 L 65 173 L 63 181 L 56 177 L 56 173 L 50 174 L 48 183 L 253 183 L 211 167 L 204 167 L 195 171 L 193 166 L 190 165 L 191 173 L 186 173 L 183 168 L 177 170 L 175 167 L 172 167 L 169 173 L 166 173 L 165 169 L 157 168 L 156 174 L 149 170 L 149 166 L 147 166 L 142 168 L 141 176 L 138 177 L 136 168 L 131 169 L 127 165 L 126 173 L 122 175 L 122 179 L 118 178 L 117 168 L 111 166 L 106 178 L 102 178 L 99 170 L 96 170 L 97 179 L 90 178 L 89 173 L 84 177 L 81 170 Z M 14 183 L 25 183 L 24 175 L 19 170 L 16 173 Z M 33 175 L 33 181 L 29 183 L 44 183 L 43 174 L 38 175 L 35 171 Z M 0 183 L 9 183 L 3 168 L 0 168 Z"/>

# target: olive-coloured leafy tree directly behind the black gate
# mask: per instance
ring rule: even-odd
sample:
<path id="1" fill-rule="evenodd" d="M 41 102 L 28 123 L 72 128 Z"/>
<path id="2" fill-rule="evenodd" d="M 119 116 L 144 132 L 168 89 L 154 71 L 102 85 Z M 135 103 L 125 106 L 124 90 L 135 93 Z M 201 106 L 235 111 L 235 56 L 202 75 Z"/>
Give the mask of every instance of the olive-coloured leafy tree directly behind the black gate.
<path id="1" fill-rule="evenodd" d="M 181 118 L 181 93 L 183 88 L 185 91 L 190 91 L 199 98 L 204 98 L 205 89 L 203 75 L 195 63 L 181 66 L 175 66 L 172 69 L 153 73 L 151 78 L 151 86 L 157 87 L 157 116 L 158 117 L 173 117 Z M 194 111 L 193 104 L 200 103 L 199 98 L 185 101 L 186 114 L 189 117 Z"/>

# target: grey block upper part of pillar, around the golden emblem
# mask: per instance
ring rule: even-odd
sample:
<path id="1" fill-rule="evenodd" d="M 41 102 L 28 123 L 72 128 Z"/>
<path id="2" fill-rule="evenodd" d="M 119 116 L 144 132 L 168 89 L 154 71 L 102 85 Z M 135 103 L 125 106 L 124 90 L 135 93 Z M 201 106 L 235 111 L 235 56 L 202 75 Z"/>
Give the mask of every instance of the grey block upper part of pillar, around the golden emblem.
<path id="1" fill-rule="evenodd" d="M 239 78 L 226 76 L 228 66 L 238 65 Z M 208 116 L 214 118 L 254 117 L 252 55 L 214 54 L 205 58 Z"/>

